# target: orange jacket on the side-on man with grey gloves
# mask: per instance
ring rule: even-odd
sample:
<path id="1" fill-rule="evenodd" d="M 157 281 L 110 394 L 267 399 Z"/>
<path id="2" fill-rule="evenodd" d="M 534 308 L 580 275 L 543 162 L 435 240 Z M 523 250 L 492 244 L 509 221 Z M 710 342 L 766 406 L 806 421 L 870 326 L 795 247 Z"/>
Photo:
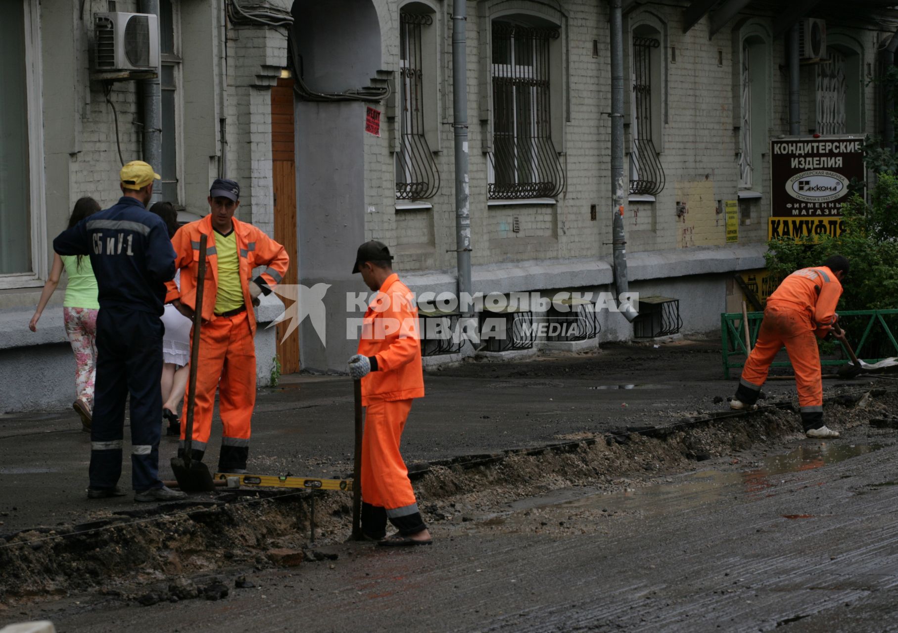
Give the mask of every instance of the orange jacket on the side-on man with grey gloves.
<path id="1" fill-rule="evenodd" d="M 418 305 L 395 273 L 368 303 L 358 353 L 377 358 L 377 371 L 362 379 L 362 404 L 424 397 Z"/>

